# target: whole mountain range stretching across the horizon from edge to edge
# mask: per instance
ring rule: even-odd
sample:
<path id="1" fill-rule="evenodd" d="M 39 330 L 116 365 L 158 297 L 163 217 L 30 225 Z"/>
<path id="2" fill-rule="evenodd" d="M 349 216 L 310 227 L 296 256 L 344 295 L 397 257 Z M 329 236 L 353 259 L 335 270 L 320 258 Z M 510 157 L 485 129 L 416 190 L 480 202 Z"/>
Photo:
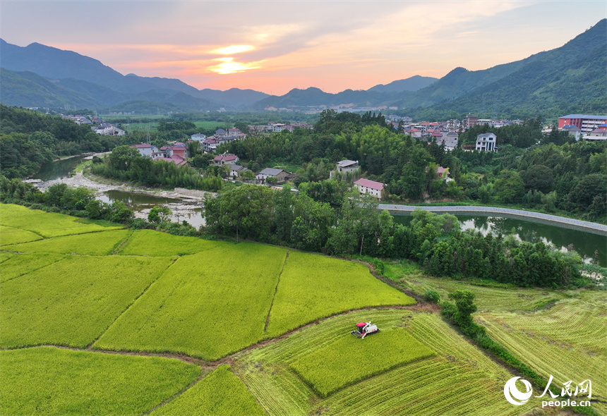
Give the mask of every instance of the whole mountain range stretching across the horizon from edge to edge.
<path id="1" fill-rule="evenodd" d="M 607 19 L 563 47 L 482 71 L 455 68 L 443 78 L 415 75 L 368 90 L 318 88 L 282 96 L 232 88 L 198 90 L 181 80 L 122 75 L 73 51 L 0 39 L 0 101 L 11 106 L 66 105 L 99 111 L 214 111 L 310 106 L 397 106 L 412 116 L 558 116 L 607 109 Z"/>

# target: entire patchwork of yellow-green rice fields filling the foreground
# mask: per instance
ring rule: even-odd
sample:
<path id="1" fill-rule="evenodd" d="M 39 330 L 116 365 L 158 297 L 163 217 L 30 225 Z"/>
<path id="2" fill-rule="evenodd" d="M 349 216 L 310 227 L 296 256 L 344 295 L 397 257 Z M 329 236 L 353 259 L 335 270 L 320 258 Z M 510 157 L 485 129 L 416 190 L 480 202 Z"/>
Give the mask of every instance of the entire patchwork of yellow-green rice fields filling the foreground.
<path id="1" fill-rule="evenodd" d="M 519 374 L 364 264 L 0 214 L 0 415 L 543 414 L 505 400 Z M 607 415 L 607 292 L 387 269 L 417 293 L 476 293 L 495 341 L 558 387 L 591 379 Z M 349 334 L 369 320 L 378 334 Z"/>

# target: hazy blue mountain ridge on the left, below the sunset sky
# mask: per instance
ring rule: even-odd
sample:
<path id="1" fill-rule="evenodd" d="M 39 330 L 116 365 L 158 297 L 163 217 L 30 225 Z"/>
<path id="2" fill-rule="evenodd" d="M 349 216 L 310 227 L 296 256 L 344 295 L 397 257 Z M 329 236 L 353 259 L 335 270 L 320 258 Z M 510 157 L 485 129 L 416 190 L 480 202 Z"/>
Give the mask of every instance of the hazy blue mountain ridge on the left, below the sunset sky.
<path id="1" fill-rule="evenodd" d="M 173 104 L 181 111 L 201 111 L 220 107 L 243 109 L 268 96 L 263 92 L 237 88 L 227 92 L 200 91 L 181 80 L 122 75 L 97 59 L 39 43 L 18 47 L 0 39 L 0 62 L 2 68 L 16 73 L 28 71 L 40 75 L 35 80 L 30 77 L 27 83 L 30 91 L 23 97 L 3 93 L 2 102 L 8 105 L 46 106 L 42 103 L 52 103 L 54 106 L 78 106 L 78 102 L 88 102 L 89 106 L 99 108 L 127 101 L 150 102 L 152 97 L 152 102 Z M 64 90 L 49 89 L 48 82 L 51 81 Z M 18 85 L 13 85 L 13 82 L 18 82 Z M 24 92 L 24 82 L 13 74 L 2 80 L 2 87 L 8 92 Z M 37 82 L 40 85 L 35 85 Z"/>

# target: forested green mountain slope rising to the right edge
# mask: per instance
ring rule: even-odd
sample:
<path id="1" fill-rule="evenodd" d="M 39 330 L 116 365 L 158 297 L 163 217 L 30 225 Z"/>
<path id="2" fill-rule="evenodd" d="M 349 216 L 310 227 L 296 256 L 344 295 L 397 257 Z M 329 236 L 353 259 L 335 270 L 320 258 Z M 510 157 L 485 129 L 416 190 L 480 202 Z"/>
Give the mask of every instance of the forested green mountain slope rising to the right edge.
<path id="1" fill-rule="evenodd" d="M 605 114 L 607 19 L 599 21 L 563 47 L 530 56 L 519 61 L 517 66 L 516 71 L 498 80 L 469 90 L 455 99 L 435 104 L 428 111 L 417 109 L 416 114 L 423 116 L 455 111 L 486 117 L 510 114 L 519 118 L 570 113 Z M 450 78 L 450 74 L 435 85 L 447 78 Z M 403 102 L 414 104 L 414 100 L 420 98 L 417 94 L 424 90 Z"/>

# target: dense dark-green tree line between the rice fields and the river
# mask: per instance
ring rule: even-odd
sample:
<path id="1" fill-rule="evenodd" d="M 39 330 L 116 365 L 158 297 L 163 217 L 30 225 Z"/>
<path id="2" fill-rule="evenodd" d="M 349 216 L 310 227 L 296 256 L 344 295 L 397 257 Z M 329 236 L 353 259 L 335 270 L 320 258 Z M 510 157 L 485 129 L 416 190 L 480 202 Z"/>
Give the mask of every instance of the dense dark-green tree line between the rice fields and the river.
<path id="1" fill-rule="evenodd" d="M 242 185 L 205 199 L 206 231 L 212 235 L 289 245 L 328 255 L 413 259 L 435 276 L 487 279 L 550 288 L 589 284 L 575 252 L 503 235 L 461 231 L 450 214 L 418 210 L 411 225 L 395 224 L 373 197 L 345 192 L 339 204 Z"/>

